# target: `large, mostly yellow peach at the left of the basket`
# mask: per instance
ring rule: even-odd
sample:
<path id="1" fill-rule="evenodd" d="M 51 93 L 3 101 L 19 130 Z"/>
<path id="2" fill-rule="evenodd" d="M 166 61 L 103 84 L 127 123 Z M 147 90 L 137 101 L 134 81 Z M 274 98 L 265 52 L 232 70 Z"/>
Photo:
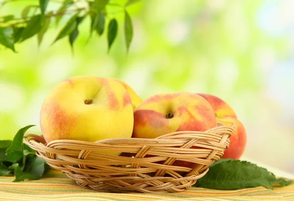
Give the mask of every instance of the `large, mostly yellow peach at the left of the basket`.
<path id="1" fill-rule="evenodd" d="M 47 142 L 128 138 L 133 122 L 131 99 L 123 85 L 94 76 L 71 77 L 56 85 L 40 113 L 41 131 Z"/>

